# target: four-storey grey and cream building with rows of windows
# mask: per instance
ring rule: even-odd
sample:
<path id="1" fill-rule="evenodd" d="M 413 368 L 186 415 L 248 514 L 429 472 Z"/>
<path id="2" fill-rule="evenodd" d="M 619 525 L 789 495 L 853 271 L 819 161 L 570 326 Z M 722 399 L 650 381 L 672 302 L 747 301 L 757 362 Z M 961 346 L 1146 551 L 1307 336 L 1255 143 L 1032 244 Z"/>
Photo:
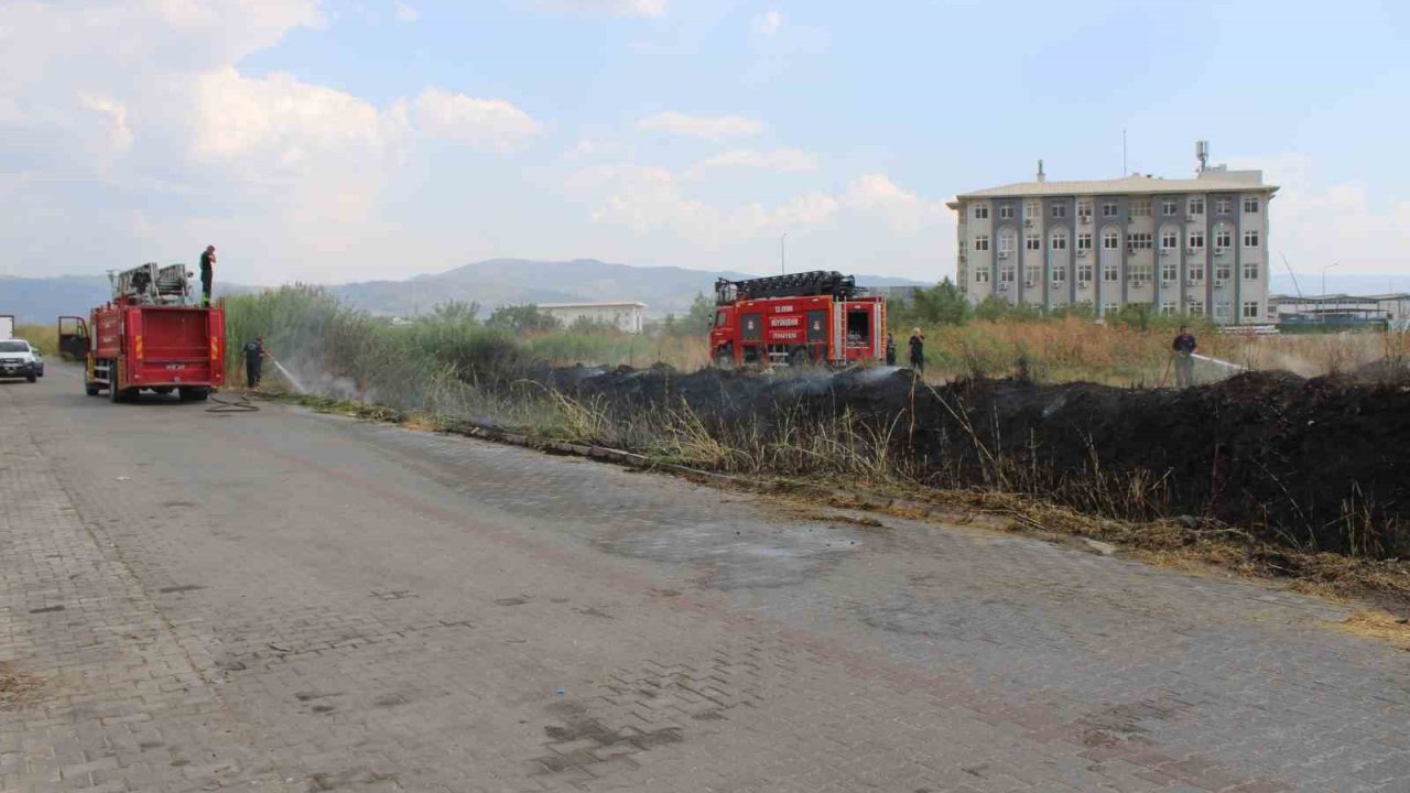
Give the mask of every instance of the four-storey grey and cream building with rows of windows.
<path id="1" fill-rule="evenodd" d="M 1268 202 L 1262 171 L 1207 164 L 1193 179 L 1038 179 L 956 196 L 959 288 L 971 303 L 1091 308 L 1127 303 L 1218 323 L 1265 323 Z"/>

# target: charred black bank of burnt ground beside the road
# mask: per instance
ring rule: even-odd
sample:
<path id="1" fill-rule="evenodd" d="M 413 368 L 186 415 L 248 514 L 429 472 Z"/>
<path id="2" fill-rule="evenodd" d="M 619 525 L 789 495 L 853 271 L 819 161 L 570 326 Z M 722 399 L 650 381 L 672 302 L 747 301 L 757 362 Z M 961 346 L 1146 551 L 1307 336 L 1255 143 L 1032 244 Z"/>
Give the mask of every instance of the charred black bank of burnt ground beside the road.
<path id="1" fill-rule="evenodd" d="M 1144 478 L 1159 483 L 1159 507 L 1169 514 L 1213 516 L 1303 547 L 1410 556 L 1403 370 L 1311 380 L 1249 373 L 1183 391 L 1011 380 L 931 388 L 895 368 L 571 368 L 548 377 L 619 415 L 689 406 L 716 433 L 850 411 L 874 428 L 900 428 L 893 452 L 936 485 L 1008 484 L 1091 505 L 1101 501 L 1091 495 L 1098 477 L 1108 490 Z"/>

